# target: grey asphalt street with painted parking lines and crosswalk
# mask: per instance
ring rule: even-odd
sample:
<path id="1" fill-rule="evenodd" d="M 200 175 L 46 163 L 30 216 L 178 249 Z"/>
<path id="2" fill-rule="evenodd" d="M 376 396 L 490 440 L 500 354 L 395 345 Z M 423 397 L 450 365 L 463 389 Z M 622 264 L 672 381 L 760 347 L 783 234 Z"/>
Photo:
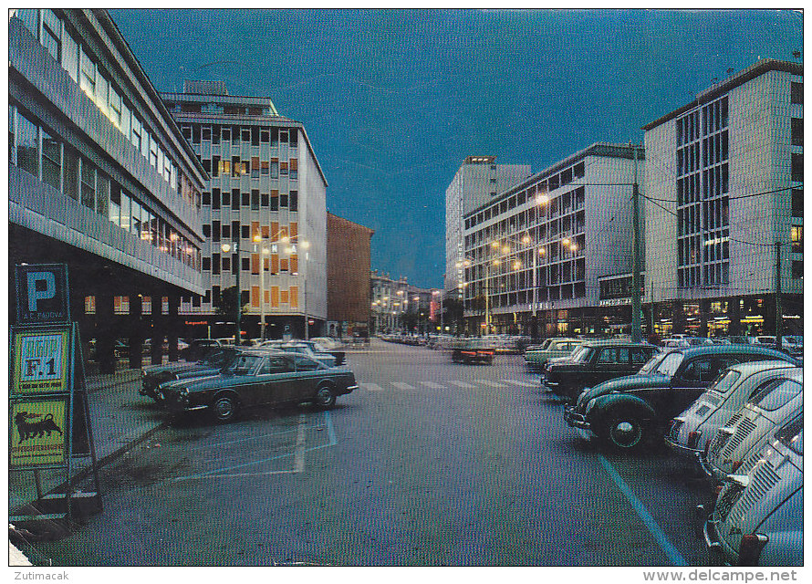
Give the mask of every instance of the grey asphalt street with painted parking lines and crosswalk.
<path id="1" fill-rule="evenodd" d="M 373 339 L 348 361 L 360 388 L 335 409 L 222 425 L 165 423 L 136 381 L 99 386 L 105 510 L 23 551 L 57 566 L 707 563 L 698 477 L 667 451 L 584 441 L 521 356 L 463 365 Z"/>

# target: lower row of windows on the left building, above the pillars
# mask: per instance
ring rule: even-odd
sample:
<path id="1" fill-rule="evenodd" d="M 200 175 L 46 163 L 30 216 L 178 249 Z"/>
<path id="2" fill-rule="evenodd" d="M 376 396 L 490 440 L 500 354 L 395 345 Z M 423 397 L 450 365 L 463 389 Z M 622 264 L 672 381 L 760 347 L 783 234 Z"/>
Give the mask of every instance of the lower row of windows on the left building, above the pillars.
<path id="1" fill-rule="evenodd" d="M 74 148 L 9 105 L 9 162 L 106 216 L 161 252 L 200 269 L 200 249 Z"/>

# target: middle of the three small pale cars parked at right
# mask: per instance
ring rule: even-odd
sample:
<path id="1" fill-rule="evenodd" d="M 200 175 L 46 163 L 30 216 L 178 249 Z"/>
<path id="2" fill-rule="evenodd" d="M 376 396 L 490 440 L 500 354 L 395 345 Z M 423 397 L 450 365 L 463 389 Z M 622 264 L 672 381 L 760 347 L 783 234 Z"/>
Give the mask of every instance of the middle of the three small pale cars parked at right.
<path id="1" fill-rule="evenodd" d="M 786 422 L 804 411 L 804 373 L 786 370 L 765 381 L 752 399 L 716 432 L 708 447 L 706 472 L 718 480 L 734 473 L 750 454 Z"/>

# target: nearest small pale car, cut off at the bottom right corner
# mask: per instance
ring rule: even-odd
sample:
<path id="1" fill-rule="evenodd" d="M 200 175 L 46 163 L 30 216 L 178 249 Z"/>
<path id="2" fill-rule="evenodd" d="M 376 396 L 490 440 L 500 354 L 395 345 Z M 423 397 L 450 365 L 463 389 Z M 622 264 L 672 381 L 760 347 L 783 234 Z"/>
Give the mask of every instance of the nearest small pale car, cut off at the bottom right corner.
<path id="1" fill-rule="evenodd" d="M 787 423 L 755 455 L 746 474 L 728 477 L 705 544 L 732 566 L 804 564 L 804 420 Z"/>

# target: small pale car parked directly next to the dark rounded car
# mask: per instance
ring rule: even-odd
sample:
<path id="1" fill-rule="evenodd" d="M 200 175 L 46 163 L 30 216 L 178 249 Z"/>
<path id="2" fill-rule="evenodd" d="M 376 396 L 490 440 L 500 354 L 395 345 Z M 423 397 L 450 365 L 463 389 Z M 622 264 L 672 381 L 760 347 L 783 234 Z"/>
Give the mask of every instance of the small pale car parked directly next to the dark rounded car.
<path id="1" fill-rule="evenodd" d="M 713 381 L 713 384 L 691 406 L 671 421 L 666 443 L 681 454 L 701 456 L 704 464 L 707 447 L 716 431 L 733 417 L 742 406 L 762 390 L 765 383 L 783 377 L 793 364 L 787 361 L 750 361 L 734 365 Z"/>

